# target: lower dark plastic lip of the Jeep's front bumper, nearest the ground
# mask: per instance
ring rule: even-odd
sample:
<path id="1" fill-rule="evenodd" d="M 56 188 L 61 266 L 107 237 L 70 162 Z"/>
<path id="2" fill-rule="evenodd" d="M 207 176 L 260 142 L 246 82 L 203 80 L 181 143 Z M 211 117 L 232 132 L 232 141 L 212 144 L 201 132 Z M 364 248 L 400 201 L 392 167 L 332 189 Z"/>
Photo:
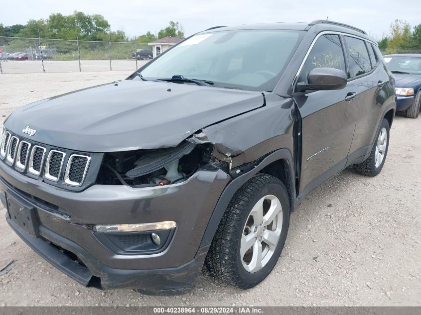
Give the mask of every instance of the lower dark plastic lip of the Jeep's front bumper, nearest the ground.
<path id="1" fill-rule="evenodd" d="M 209 248 L 199 248 L 192 261 L 178 268 L 116 269 L 100 263 L 78 244 L 43 226 L 39 228 L 41 237 L 33 237 L 12 221 L 7 213 L 6 220 L 29 247 L 54 267 L 85 287 L 98 289 L 136 288 L 141 293 L 155 295 L 186 293 L 194 288 Z M 66 254 L 69 252 L 81 258 L 84 265 L 69 257 Z"/>

